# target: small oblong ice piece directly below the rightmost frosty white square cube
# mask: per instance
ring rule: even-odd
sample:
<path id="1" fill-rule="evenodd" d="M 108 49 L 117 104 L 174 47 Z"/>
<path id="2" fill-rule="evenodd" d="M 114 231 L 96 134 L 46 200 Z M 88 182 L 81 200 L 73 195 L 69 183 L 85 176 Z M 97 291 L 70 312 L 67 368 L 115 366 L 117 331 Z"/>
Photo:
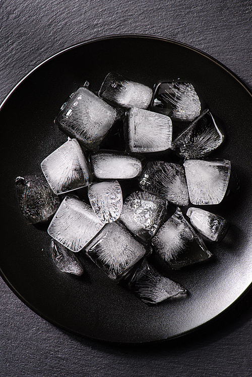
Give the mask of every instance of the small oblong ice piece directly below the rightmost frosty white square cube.
<path id="1" fill-rule="evenodd" d="M 211 241 L 221 241 L 229 228 L 229 223 L 223 217 L 200 208 L 188 208 L 186 215 L 194 227 Z"/>

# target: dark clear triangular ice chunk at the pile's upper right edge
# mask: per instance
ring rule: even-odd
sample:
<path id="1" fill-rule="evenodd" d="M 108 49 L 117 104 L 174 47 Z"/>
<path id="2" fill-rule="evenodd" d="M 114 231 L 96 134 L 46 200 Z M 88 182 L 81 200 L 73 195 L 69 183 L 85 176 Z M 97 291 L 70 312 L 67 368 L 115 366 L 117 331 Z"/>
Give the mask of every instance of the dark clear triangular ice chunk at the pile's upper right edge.
<path id="1" fill-rule="evenodd" d="M 212 114 L 205 110 L 172 142 L 171 149 L 186 159 L 200 159 L 216 149 L 223 139 Z"/>

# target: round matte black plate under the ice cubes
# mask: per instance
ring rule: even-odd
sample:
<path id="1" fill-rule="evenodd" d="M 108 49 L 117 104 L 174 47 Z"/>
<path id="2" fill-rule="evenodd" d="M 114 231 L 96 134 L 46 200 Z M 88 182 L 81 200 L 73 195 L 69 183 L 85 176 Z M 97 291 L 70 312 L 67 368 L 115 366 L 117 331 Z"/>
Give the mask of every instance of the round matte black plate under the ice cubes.
<path id="1" fill-rule="evenodd" d="M 113 284 L 91 261 L 84 277 L 61 273 L 49 254 L 49 236 L 22 216 L 15 178 L 40 172 L 40 162 L 67 140 L 53 120 L 67 97 L 90 82 L 94 90 L 110 71 L 150 87 L 160 81 L 192 83 L 226 140 L 212 158 L 231 161 L 240 189 L 212 211 L 231 228 L 219 244 L 208 245 L 209 263 L 175 272 L 188 289 L 184 299 L 147 307 Z M 114 342 L 147 342 L 181 335 L 228 308 L 252 281 L 251 126 L 252 96 L 225 66 L 190 46 L 146 36 L 88 41 L 56 54 L 23 79 L 2 104 L 1 275 L 26 305 L 74 333 Z"/>

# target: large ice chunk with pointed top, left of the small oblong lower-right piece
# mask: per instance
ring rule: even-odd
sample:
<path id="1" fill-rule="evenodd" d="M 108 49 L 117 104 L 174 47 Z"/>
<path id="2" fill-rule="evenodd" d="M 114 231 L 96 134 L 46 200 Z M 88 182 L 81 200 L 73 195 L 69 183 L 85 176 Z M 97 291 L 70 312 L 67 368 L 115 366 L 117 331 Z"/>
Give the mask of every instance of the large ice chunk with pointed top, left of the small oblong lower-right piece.
<path id="1" fill-rule="evenodd" d="M 152 245 L 158 256 L 174 269 L 211 257 L 204 242 L 196 235 L 179 208 L 153 237 Z"/>

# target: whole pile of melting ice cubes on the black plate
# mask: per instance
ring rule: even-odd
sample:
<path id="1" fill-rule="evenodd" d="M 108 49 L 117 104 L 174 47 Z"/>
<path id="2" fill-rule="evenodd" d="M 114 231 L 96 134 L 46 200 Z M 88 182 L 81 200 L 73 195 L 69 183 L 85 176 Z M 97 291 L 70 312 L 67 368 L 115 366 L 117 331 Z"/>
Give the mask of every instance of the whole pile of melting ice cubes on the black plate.
<path id="1" fill-rule="evenodd" d="M 85 83 L 62 106 L 55 123 L 71 138 L 42 161 L 44 176 L 16 179 L 29 222 L 51 220 L 50 253 L 61 271 L 81 275 L 74 253 L 84 252 L 147 304 L 186 294 L 158 272 L 160 263 L 167 275 L 205 261 L 212 254 L 202 236 L 220 241 L 228 229 L 219 215 L 187 208 L 189 199 L 201 206 L 220 203 L 230 176 L 229 161 L 202 160 L 224 136 L 201 107 L 192 84 L 161 83 L 153 94 L 117 73 L 107 75 L 98 95 Z M 127 152 L 116 145 L 98 150 L 119 119 Z M 185 129 L 172 141 L 177 121 Z M 135 180 L 135 190 L 124 199 L 120 182 L 125 187 L 127 180 Z M 79 195 L 83 188 L 89 203 Z"/>

